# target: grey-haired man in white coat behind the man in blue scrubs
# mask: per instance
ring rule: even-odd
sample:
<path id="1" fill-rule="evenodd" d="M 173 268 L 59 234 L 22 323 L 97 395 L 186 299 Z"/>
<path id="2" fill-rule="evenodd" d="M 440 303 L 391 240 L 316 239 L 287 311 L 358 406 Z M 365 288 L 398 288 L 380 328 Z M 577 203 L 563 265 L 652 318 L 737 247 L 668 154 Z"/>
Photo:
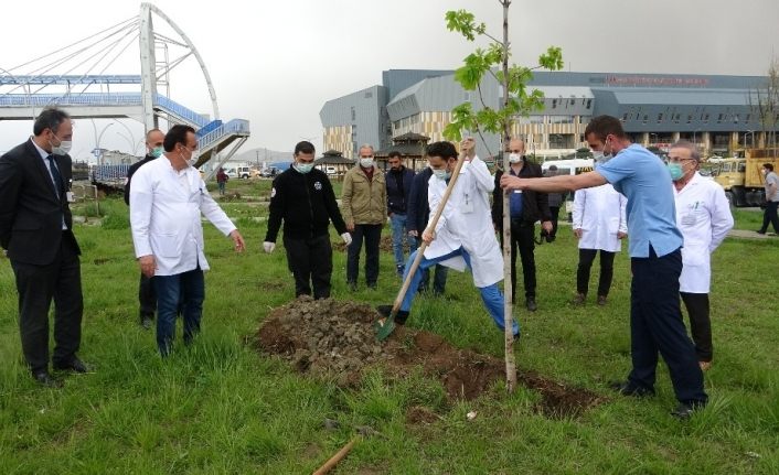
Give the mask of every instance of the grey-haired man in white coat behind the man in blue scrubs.
<path id="1" fill-rule="evenodd" d="M 668 156 L 676 198 L 676 226 L 684 236 L 679 290 L 690 316 L 698 365 L 706 370 L 713 357 L 708 305 L 711 255 L 733 228 L 733 215 L 723 187 L 697 172 L 701 155 L 693 143 L 674 143 Z"/>

